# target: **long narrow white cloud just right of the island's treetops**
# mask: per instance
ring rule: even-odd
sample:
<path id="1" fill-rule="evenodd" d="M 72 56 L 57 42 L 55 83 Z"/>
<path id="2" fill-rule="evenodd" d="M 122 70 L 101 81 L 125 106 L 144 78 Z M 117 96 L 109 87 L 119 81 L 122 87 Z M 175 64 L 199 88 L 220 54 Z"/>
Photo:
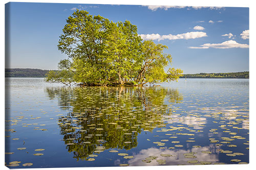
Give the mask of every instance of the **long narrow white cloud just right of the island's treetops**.
<path id="1" fill-rule="evenodd" d="M 176 39 L 195 39 L 195 38 L 201 38 L 201 37 L 207 37 L 207 34 L 204 32 L 188 32 L 183 34 L 177 34 L 177 35 L 159 35 L 159 34 L 140 34 L 142 39 L 144 40 L 176 40 Z"/>

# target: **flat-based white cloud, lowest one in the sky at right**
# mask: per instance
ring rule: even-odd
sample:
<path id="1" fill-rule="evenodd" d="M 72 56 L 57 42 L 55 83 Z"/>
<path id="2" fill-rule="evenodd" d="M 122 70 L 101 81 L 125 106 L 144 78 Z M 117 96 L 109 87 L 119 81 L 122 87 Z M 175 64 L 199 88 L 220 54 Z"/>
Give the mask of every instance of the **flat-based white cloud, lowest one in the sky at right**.
<path id="1" fill-rule="evenodd" d="M 206 43 L 200 46 L 189 46 L 189 48 L 193 48 L 193 49 L 206 49 L 206 48 L 249 48 L 248 44 L 240 44 L 234 40 L 229 40 L 229 41 L 224 41 L 222 43 L 218 43 L 218 44 L 210 44 L 210 43 Z"/>

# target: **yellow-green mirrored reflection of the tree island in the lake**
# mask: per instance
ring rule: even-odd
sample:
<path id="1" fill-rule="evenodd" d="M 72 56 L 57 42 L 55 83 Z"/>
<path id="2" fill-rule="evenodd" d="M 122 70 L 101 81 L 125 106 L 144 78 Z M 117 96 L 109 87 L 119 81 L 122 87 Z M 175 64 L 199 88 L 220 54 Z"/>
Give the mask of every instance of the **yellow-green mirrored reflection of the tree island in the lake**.
<path id="1" fill-rule="evenodd" d="M 70 110 L 58 125 L 77 160 L 104 149 L 136 147 L 138 134 L 164 127 L 163 115 L 172 114 L 172 104 L 183 100 L 178 90 L 161 87 L 53 87 L 46 92 L 61 109 Z"/>

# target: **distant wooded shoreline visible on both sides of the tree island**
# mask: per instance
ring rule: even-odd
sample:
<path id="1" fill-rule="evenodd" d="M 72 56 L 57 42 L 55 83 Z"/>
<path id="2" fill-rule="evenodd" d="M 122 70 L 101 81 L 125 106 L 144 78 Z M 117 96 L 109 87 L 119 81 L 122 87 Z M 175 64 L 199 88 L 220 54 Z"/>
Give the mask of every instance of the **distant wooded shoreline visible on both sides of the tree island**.
<path id="1" fill-rule="evenodd" d="M 13 78 L 45 78 L 49 70 L 36 68 L 6 68 L 5 77 Z M 249 79 L 249 71 L 184 74 L 180 79 Z"/>

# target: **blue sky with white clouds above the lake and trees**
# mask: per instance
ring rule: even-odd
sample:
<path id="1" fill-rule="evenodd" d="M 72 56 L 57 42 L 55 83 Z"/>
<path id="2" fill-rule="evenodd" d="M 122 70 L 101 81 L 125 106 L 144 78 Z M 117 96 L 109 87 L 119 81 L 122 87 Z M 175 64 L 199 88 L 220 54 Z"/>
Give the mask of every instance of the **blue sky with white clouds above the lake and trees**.
<path id="1" fill-rule="evenodd" d="M 143 39 L 168 46 L 168 67 L 184 74 L 249 70 L 249 8 L 10 3 L 10 68 L 57 69 L 68 16 L 82 9 L 113 21 L 130 20 Z M 167 68 L 166 68 L 167 69 Z"/>

